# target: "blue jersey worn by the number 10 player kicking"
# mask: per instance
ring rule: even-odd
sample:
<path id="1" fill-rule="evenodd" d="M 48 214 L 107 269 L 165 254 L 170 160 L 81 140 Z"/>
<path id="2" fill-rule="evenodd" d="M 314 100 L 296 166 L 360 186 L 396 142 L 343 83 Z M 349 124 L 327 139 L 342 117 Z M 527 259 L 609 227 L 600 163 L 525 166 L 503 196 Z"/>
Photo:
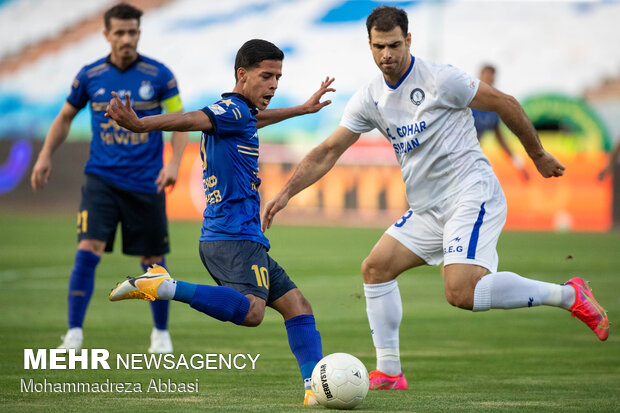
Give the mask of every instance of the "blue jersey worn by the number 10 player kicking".
<path id="1" fill-rule="evenodd" d="M 202 111 L 213 129 L 203 131 L 200 143 L 206 198 L 200 240 L 249 240 L 269 249 L 260 228 L 257 109 L 240 94 L 224 93 Z"/>

